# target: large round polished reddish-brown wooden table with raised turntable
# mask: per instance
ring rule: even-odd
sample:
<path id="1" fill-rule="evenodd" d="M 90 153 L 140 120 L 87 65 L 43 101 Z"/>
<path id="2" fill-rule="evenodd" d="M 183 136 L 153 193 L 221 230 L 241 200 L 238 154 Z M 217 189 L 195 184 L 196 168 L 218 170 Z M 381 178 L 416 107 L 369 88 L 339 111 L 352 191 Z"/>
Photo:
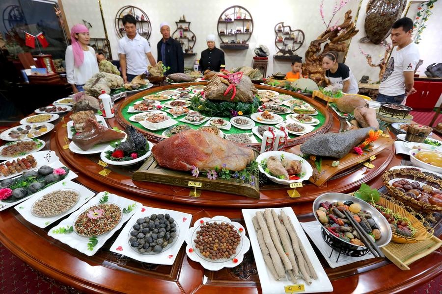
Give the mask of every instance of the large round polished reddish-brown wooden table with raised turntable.
<path id="1" fill-rule="evenodd" d="M 146 91 L 147 92 L 147 91 Z M 305 98 L 311 102 L 311 98 Z M 119 102 L 124 103 L 124 102 Z M 313 103 L 313 102 L 312 102 Z M 317 102 L 314 102 L 317 103 Z M 118 107 L 118 103 L 116 105 Z M 328 110 L 327 110 L 328 111 Z M 338 131 L 342 122 L 332 111 L 329 131 Z M 66 121 L 68 121 L 66 116 Z M 381 175 L 386 169 L 400 165 L 402 157 L 394 147 L 385 149 L 373 161 L 374 169 L 357 167 L 316 187 L 305 184 L 298 189 L 300 198 L 288 197 L 286 190 L 270 187 L 260 191 L 259 199 L 203 191 L 199 198 L 190 197 L 189 189 L 149 182 L 135 182 L 132 170 L 110 167 L 111 173 L 98 174 L 103 168 L 97 164 L 99 156 L 74 154 L 63 149 L 66 136 L 65 122 L 58 120 L 55 131 L 43 137 L 47 147 L 55 150 L 60 161 L 78 174 L 75 181 L 95 192 L 109 191 L 131 198 L 145 206 L 183 211 L 201 217 L 223 215 L 244 223 L 242 208 L 291 206 L 299 221 L 314 220 L 312 201 L 327 192 L 351 192 L 361 183 L 373 188 L 383 186 Z M 116 118 L 108 120 L 110 126 L 122 128 Z M 394 134 L 390 133 L 391 136 Z M 54 223 L 52 226 L 56 225 Z M 51 226 L 51 227 L 52 227 Z M 183 244 L 175 263 L 171 266 L 145 264 L 109 251 L 119 232 L 94 255 L 88 257 L 62 244 L 41 229 L 25 221 L 14 209 L 0 212 L 0 242 L 32 268 L 61 284 L 80 292 L 91 293 L 260 293 L 260 283 L 250 249 L 243 263 L 232 269 L 204 270 L 190 260 Z M 437 223 L 435 235 L 441 238 L 442 225 Z M 399 293 L 410 290 L 438 276 L 442 271 L 441 249 L 415 261 L 411 270 L 400 270 L 387 259 L 369 259 L 331 269 L 315 248 L 331 283 L 333 293 Z M 74 290 L 72 289 L 72 290 Z"/>

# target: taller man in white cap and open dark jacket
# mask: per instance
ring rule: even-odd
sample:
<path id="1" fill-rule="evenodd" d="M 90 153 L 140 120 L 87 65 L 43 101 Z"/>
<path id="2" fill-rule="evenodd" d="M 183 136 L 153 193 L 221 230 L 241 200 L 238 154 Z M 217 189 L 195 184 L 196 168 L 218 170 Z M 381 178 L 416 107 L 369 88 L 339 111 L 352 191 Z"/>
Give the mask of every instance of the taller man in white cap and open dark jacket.
<path id="1" fill-rule="evenodd" d="M 184 55 L 180 42 L 170 38 L 170 26 L 166 22 L 161 23 L 160 32 L 163 38 L 157 44 L 158 61 L 170 69 L 165 73 L 184 73 Z"/>

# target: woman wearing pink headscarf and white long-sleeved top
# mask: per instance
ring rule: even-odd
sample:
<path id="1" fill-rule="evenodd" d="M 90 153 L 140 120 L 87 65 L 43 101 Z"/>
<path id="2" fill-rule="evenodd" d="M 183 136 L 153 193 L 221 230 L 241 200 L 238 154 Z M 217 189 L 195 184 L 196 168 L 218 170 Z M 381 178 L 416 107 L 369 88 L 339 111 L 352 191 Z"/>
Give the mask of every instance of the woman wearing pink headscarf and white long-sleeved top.
<path id="1" fill-rule="evenodd" d="M 66 77 L 72 86 L 72 91 L 83 91 L 83 85 L 98 73 L 95 50 L 89 44 L 89 30 L 84 25 L 74 25 L 71 28 L 71 45 L 66 48 Z"/>

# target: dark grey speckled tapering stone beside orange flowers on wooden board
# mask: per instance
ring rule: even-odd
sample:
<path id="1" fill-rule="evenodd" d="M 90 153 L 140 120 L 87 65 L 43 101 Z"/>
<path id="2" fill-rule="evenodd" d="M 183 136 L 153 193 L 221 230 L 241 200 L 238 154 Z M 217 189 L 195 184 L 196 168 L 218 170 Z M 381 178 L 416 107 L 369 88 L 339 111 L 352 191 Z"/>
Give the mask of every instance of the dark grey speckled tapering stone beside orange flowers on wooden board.
<path id="1" fill-rule="evenodd" d="M 305 141 L 301 145 L 301 152 L 309 155 L 342 158 L 367 137 L 370 129 L 374 130 L 375 128 L 364 127 L 343 133 L 319 134 Z"/>

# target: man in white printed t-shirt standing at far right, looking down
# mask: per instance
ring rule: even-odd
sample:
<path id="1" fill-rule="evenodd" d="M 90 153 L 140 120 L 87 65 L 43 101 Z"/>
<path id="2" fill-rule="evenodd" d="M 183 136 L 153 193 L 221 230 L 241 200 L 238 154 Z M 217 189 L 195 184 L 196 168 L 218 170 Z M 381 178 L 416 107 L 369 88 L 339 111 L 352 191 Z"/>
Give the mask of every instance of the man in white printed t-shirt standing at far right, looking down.
<path id="1" fill-rule="evenodd" d="M 398 19 L 391 26 L 393 50 L 379 86 L 378 102 L 401 103 L 414 90 L 414 71 L 419 62 L 419 50 L 412 39 L 413 21 Z"/>

